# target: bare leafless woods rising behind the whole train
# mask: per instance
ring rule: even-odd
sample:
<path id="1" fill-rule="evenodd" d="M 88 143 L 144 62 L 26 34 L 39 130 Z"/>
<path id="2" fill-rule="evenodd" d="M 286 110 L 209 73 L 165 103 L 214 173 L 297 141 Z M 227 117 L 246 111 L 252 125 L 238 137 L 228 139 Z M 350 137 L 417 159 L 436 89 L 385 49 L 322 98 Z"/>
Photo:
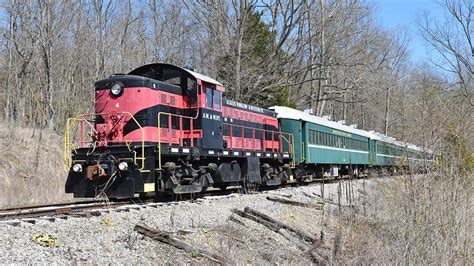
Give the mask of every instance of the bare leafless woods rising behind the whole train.
<path id="1" fill-rule="evenodd" d="M 221 81 L 227 97 L 312 108 L 436 149 L 472 145 L 472 0 L 440 1 L 418 31 L 379 26 L 376 1 L 8 1 L 1 3 L 0 116 L 62 132 L 91 112 L 93 83 L 151 62 Z M 422 35 L 431 61 L 412 62 Z"/>

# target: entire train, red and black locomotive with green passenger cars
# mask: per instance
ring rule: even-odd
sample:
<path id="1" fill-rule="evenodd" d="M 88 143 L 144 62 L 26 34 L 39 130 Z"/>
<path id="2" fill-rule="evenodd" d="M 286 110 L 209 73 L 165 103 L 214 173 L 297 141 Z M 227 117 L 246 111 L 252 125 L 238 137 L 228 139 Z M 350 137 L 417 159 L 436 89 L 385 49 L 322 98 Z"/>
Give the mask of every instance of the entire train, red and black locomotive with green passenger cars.
<path id="1" fill-rule="evenodd" d="M 69 118 L 65 129 L 65 192 L 76 198 L 249 191 L 433 161 L 429 150 L 383 134 L 227 99 L 217 80 L 172 64 L 94 87 L 94 112 Z"/>

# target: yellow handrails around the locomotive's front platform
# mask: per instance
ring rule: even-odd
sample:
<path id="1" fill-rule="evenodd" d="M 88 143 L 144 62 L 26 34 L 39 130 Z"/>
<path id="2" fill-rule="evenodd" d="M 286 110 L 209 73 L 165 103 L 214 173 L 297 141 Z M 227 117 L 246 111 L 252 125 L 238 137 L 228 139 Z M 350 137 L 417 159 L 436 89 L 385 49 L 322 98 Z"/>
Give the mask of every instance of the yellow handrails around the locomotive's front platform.
<path id="1" fill-rule="evenodd" d="M 72 164 L 72 151 L 76 149 L 76 146 L 74 143 L 71 142 L 71 129 L 76 128 L 77 124 L 80 123 L 80 126 L 83 127 L 83 123 L 87 123 L 88 128 L 92 130 L 93 132 L 97 133 L 97 130 L 95 129 L 95 125 L 90 123 L 88 120 L 88 117 L 92 116 L 108 116 L 112 114 L 121 114 L 123 119 L 125 116 L 129 116 L 133 122 L 138 126 L 141 132 L 141 157 L 137 157 L 137 154 L 134 153 L 133 156 L 133 162 L 137 164 L 137 161 L 141 161 L 141 167 L 139 168 L 139 171 L 142 171 L 145 169 L 145 131 L 143 127 L 140 125 L 140 123 L 137 121 L 137 119 L 130 113 L 130 112 L 110 112 L 110 113 L 96 113 L 96 114 L 81 114 L 77 115 L 76 117 L 73 118 L 68 118 L 66 122 L 66 131 L 64 133 L 64 170 L 66 172 L 69 171 L 69 168 L 71 167 Z M 79 133 L 79 148 L 85 147 L 86 144 L 93 144 L 93 141 L 86 142 L 83 139 L 83 135 L 85 134 L 84 130 L 81 130 Z M 114 143 L 114 142 L 123 142 L 126 140 L 109 140 L 107 142 Z"/>

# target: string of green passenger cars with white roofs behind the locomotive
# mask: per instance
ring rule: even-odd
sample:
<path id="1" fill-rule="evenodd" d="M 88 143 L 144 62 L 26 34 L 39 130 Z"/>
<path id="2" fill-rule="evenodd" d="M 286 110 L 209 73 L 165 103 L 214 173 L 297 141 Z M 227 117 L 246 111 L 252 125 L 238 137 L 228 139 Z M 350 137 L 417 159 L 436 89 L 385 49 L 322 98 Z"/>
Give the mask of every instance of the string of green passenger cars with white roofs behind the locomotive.
<path id="1" fill-rule="evenodd" d="M 419 167 L 432 160 L 423 150 L 373 131 L 360 130 L 342 123 L 275 106 L 282 132 L 293 135 L 296 174 L 338 176 L 369 171 L 395 172 Z M 429 158 L 429 157 L 428 157 Z"/>

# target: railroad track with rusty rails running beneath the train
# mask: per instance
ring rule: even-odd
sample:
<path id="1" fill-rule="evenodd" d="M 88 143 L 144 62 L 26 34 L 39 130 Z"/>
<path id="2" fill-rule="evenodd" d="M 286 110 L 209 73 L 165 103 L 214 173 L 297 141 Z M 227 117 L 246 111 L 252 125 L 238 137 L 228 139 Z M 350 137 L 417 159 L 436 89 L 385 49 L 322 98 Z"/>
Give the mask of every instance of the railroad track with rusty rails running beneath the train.
<path id="1" fill-rule="evenodd" d="M 341 178 L 348 179 L 348 178 Z M 305 185 L 329 184 L 338 179 L 316 179 Z M 286 186 L 299 186 L 297 182 L 287 183 Z M 271 191 L 273 189 L 263 189 Z M 125 199 L 118 201 L 93 200 L 74 203 L 59 203 L 42 206 L 22 206 L 0 210 L 0 223 L 8 223 L 17 226 L 22 222 L 36 223 L 39 219 L 55 221 L 56 219 L 67 219 L 68 217 L 90 217 L 100 216 L 103 212 L 115 209 L 116 211 L 130 211 L 130 209 L 141 209 L 145 207 L 158 207 L 163 204 L 177 204 L 180 201 L 199 201 L 200 198 L 226 196 L 233 193 L 242 193 L 241 187 L 229 187 L 226 190 L 210 189 L 199 194 L 165 195 L 159 198 L 149 197 L 141 199 Z"/>

